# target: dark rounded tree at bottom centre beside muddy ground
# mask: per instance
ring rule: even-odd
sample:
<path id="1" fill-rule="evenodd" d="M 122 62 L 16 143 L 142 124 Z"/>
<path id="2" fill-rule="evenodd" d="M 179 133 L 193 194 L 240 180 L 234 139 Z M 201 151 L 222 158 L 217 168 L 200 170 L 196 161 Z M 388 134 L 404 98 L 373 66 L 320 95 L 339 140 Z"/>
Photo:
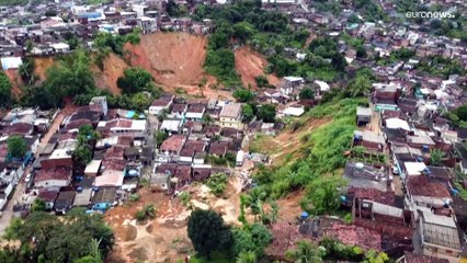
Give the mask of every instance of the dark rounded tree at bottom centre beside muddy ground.
<path id="1" fill-rule="evenodd" d="M 200 255 L 210 260 L 210 252 L 230 248 L 232 235 L 223 217 L 214 210 L 192 211 L 187 224 L 189 238 Z"/>

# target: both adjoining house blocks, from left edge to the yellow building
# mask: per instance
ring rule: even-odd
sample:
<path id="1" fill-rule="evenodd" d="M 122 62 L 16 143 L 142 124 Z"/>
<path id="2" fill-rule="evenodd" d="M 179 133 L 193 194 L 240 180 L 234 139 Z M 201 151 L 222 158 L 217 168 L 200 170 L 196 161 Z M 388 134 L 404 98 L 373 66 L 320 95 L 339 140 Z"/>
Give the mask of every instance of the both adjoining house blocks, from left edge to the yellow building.
<path id="1" fill-rule="evenodd" d="M 46 118 L 46 113 L 36 110 L 12 110 L 2 118 L 2 135 L 22 136 L 31 153 L 18 163 L 5 160 L 2 180 L 11 178 L 14 185 L 24 173 L 21 171 L 16 176 L 18 167 L 29 169 L 26 191 L 15 201 L 15 211 L 30 209 L 36 198 L 58 214 L 72 207 L 105 211 L 135 192 L 141 180 L 171 194 L 212 174 L 229 174 L 229 168 L 243 163 L 246 124 L 241 108 L 242 104 L 229 101 L 163 95 L 153 101 L 145 115 L 109 108 L 106 98 L 98 96 L 70 114 L 61 112 L 56 119 L 59 126 L 49 129 L 49 119 L 56 115 Z M 80 168 L 73 153 L 82 139 L 79 130 L 84 126 L 92 127 L 98 138 L 88 138 L 92 160 Z M 282 128 L 266 125 L 263 130 L 261 126 L 254 133 Z M 34 135 L 46 130 L 48 136 L 39 144 L 39 136 Z M 3 159 L 8 158 L 5 147 L 0 146 Z M 264 161 L 263 156 L 248 158 Z M 8 187 L 5 198 L 12 190 Z"/>

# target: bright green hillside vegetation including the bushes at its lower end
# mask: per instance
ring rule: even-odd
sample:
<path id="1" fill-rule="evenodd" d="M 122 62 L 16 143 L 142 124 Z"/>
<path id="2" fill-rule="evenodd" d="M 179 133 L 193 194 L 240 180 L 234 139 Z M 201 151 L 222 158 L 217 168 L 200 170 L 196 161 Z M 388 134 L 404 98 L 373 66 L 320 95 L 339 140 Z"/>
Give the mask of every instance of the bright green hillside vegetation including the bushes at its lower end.
<path id="1" fill-rule="evenodd" d="M 332 121 L 303 137 L 303 146 L 294 152 L 300 158 L 281 167 L 261 167 L 254 174 L 259 186 L 252 192 L 280 197 L 305 188 L 307 194 L 301 202 L 305 209 L 321 214 L 335 208 L 337 195 L 333 190 L 344 182 L 339 180 L 341 174 L 334 172 L 345 164 L 343 152 L 349 149 L 355 128 L 355 108 L 364 101 L 338 95 L 333 101 L 310 110 L 301 122 L 323 117 L 331 117 Z M 316 191 L 318 188 L 320 191 Z M 327 201 L 327 204 L 322 201 Z"/>

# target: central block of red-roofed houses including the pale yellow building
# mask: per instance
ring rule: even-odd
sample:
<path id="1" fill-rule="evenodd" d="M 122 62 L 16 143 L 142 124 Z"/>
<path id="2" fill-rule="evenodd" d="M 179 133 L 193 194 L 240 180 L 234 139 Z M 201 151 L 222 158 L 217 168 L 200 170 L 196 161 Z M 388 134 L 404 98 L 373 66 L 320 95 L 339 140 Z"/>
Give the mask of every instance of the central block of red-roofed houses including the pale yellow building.
<path id="1" fill-rule="evenodd" d="M 164 95 L 152 103 L 149 114 L 161 119 L 159 133 L 168 135 L 155 155 L 151 182 L 159 187 L 178 190 L 227 172 L 226 165 L 243 163 L 242 104 Z"/>

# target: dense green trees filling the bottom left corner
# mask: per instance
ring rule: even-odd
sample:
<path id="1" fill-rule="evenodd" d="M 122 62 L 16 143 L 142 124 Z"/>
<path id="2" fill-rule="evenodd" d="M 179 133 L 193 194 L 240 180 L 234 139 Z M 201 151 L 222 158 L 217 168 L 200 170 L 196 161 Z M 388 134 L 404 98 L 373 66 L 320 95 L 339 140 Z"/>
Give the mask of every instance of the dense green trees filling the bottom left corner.
<path id="1" fill-rule="evenodd" d="M 34 211 L 26 219 L 15 218 L 4 238 L 21 242 L 19 249 L 0 252 L 1 262 L 86 262 L 92 258 L 102 262 L 114 243 L 112 229 L 101 215 L 87 215 L 72 209 L 58 218 L 44 211 Z M 13 258 L 14 256 L 14 258 Z"/>

